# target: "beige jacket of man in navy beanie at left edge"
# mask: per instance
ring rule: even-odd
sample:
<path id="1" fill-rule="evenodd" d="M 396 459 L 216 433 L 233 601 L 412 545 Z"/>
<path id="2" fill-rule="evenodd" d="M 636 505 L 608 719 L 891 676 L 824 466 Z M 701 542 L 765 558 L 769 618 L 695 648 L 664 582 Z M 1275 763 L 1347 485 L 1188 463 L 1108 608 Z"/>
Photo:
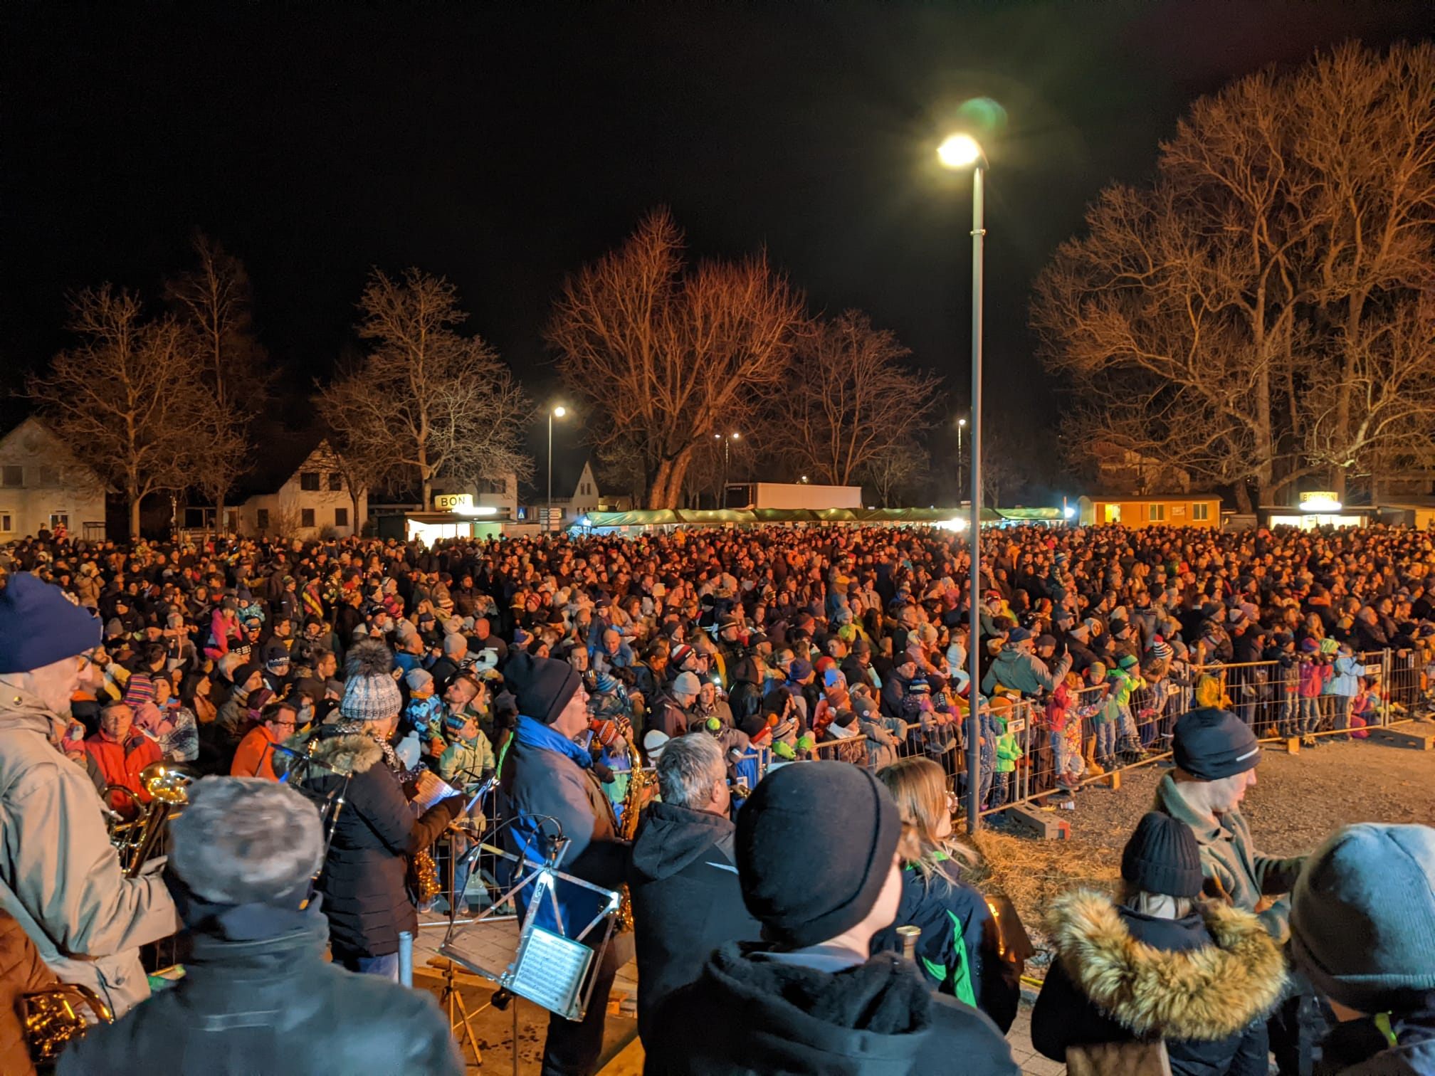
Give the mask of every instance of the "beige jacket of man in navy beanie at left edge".
<path id="1" fill-rule="evenodd" d="M 123 1013 L 149 996 L 139 947 L 179 920 L 158 874 L 123 877 L 95 785 L 50 743 L 57 725 L 34 696 L 0 696 L 0 908 L 56 976 Z"/>

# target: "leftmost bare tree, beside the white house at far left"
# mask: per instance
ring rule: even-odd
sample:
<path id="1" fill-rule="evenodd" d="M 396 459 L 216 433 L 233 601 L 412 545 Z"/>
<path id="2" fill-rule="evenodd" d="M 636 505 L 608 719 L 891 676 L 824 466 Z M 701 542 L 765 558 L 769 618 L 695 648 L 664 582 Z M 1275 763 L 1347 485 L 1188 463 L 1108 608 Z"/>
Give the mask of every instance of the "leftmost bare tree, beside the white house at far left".
<path id="1" fill-rule="evenodd" d="M 139 298 L 105 284 L 70 301 L 69 329 L 80 343 L 55 356 L 29 396 L 85 461 L 125 495 L 131 537 L 139 504 L 161 489 L 184 489 L 214 433 L 214 397 L 191 337 L 172 317 L 142 320 Z"/>

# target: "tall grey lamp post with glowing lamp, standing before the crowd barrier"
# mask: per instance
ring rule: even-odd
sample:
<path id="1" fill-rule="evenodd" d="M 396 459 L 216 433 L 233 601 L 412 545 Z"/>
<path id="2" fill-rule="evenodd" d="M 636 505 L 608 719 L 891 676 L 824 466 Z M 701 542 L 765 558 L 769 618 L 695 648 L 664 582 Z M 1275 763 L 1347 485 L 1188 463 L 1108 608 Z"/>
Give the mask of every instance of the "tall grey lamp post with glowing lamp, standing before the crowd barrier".
<path id="1" fill-rule="evenodd" d="M 971 135 L 951 135 L 937 146 L 944 168 L 971 169 L 971 568 L 967 572 L 967 832 L 982 828 L 982 245 L 986 240 L 986 154 Z M 961 426 L 957 426 L 959 436 Z"/>

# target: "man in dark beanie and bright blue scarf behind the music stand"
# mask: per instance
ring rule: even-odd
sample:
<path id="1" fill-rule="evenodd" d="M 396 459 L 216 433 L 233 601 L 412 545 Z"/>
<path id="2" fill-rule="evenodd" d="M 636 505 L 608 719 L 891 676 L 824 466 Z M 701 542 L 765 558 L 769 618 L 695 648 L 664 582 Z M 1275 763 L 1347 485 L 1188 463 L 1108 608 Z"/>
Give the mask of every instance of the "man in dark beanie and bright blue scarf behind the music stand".
<path id="1" fill-rule="evenodd" d="M 617 889 L 627 871 L 629 848 L 617 839 L 617 819 L 593 772 L 593 755 L 574 742 L 588 727 L 581 677 L 567 661 L 515 653 L 504 667 L 504 679 L 518 703 L 518 723 L 499 773 L 499 809 L 512 819 L 502 834 L 505 851 L 542 864 L 560 841 L 564 872 Z M 565 887 L 558 898 L 567 918 L 584 918 L 585 908 L 580 907 L 591 900 L 587 891 Z M 573 1021 L 557 1013 L 550 1017 L 545 1076 L 588 1076 L 597 1069 L 608 991 L 630 955 L 630 937 L 613 938 L 603 953 L 584 1019 Z"/>

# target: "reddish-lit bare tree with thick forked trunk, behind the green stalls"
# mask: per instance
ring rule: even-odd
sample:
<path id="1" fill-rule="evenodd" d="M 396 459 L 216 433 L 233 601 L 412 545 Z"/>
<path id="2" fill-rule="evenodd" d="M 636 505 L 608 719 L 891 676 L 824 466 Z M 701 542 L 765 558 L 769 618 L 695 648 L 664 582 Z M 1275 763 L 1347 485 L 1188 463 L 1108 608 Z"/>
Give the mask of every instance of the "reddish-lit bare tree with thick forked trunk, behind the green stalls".
<path id="1" fill-rule="evenodd" d="M 693 453 L 784 374 L 801 303 L 765 257 L 689 268 L 656 209 L 564 284 L 545 336 L 600 448 L 641 459 L 649 508 L 673 508 Z"/>

